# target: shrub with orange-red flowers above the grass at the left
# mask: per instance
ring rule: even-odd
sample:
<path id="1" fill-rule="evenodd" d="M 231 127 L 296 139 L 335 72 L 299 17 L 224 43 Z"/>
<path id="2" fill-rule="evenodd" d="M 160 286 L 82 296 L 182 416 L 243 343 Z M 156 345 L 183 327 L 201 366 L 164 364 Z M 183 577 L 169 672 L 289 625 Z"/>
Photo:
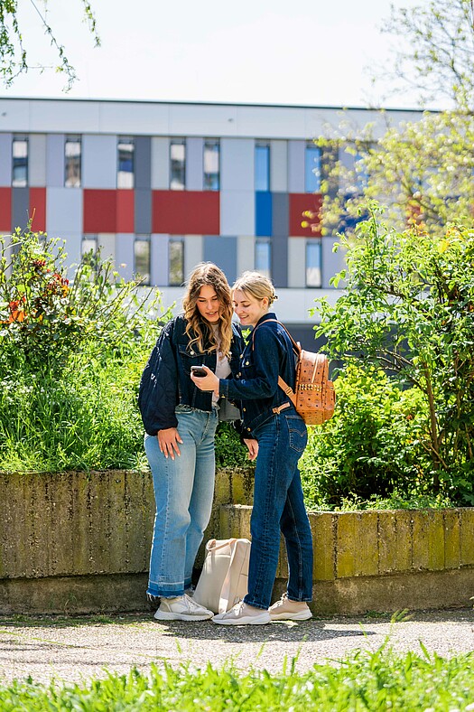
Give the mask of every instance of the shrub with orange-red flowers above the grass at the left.
<path id="1" fill-rule="evenodd" d="M 0 238 L 0 347 L 14 361 L 51 368 L 85 343 L 123 346 L 156 311 L 159 294 L 125 282 L 99 254 L 70 274 L 66 259 L 62 241 L 41 232 Z"/>

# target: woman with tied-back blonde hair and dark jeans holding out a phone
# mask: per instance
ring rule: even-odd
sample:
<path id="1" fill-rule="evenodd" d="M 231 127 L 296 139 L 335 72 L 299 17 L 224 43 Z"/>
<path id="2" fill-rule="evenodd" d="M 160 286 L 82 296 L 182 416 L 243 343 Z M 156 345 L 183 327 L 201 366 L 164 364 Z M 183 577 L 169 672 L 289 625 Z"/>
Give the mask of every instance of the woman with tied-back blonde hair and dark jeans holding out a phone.
<path id="1" fill-rule="evenodd" d="M 253 327 L 236 379 L 218 378 L 207 369 L 193 378 L 215 397 L 237 398 L 242 404 L 243 437 L 249 458 L 256 459 L 254 506 L 250 520 L 252 547 L 248 593 L 225 614 L 213 617 L 223 625 L 304 621 L 312 594 L 312 537 L 304 507 L 298 460 L 307 442 L 306 426 L 293 403 L 278 386 L 278 377 L 294 389 L 293 345 L 269 309 L 276 299 L 271 281 L 245 272 L 232 288 L 234 310 L 241 325 Z M 280 531 L 288 556 L 288 586 L 271 604 L 278 565 Z"/>

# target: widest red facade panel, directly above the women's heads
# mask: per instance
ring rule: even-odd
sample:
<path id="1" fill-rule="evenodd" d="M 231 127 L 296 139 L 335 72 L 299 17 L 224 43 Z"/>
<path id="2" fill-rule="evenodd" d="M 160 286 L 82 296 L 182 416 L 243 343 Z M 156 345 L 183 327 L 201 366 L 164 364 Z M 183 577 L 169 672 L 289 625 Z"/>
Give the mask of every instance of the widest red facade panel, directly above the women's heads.
<path id="1" fill-rule="evenodd" d="M 219 235 L 219 193 L 153 191 L 152 230 L 170 235 Z"/>

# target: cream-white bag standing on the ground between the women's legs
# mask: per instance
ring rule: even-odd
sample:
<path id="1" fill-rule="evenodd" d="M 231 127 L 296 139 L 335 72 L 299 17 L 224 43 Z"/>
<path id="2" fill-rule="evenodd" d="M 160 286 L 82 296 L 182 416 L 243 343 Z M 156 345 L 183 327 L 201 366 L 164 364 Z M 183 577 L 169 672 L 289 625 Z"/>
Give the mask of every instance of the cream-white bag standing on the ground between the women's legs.
<path id="1" fill-rule="evenodd" d="M 215 614 L 223 614 L 247 593 L 248 539 L 209 539 L 198 586 L 196 603 Z"/>

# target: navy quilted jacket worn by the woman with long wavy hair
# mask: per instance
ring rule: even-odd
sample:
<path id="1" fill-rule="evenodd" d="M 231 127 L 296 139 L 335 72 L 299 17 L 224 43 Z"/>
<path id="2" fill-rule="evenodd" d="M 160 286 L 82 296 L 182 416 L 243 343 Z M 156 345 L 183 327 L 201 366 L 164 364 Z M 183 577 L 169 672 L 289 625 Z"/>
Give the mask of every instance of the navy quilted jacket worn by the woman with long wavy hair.
<path id="1" fill-rule="evenodd" d="M 138 408 L 144 429 L 150 436 L 167 427 L 177 427 L 174 409 L 178 405 L 199 410 L 212 409 L 212 393 L 202 391 L 192 382 L 191 366 L 205 364 L 216 370 L 216 351 L 201 353 L 190 349 L 190 339 L 185 332 L 186 320 L 176 316 L 160 334 L 150 359 L 144 368 L 138 393 Z M 233 338 L 230 345 L 230 368 L 235 373 L 243 349 L 240 327 L 232 323 Z M 205 344 L 207 345 L 207 344 Z"/>

